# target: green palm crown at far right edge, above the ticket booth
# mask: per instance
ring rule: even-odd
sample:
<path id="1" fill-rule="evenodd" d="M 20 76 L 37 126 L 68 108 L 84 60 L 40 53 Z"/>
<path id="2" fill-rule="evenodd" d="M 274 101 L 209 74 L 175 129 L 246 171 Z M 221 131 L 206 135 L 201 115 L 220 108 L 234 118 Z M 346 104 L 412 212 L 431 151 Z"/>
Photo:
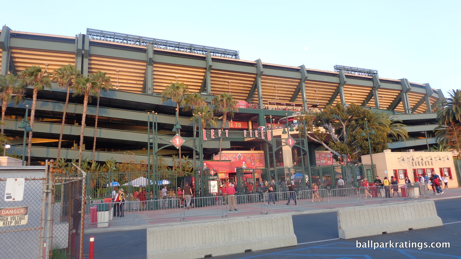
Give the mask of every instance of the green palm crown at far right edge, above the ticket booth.
<path id="1" fill-rule="evenodd" d="M 451 90 L 448 92 L 449 98 L 439 100 L 440 108 L 437 112 L 437 121 L 440 125 L 461 122 L 461 90 Z"/>

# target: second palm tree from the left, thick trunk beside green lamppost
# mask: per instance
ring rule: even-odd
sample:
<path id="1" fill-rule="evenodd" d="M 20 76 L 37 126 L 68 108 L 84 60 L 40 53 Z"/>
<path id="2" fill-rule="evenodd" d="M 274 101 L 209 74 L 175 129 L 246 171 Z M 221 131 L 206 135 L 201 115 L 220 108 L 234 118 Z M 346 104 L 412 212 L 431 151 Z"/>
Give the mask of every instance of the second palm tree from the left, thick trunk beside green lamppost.
<path id="1" fill-rule="evenodd" d="M 51 89 L 51 74 L 47 71 L 42 71 L 40 66 L 31 66 L 26 68 L 24 71 L 19 73 L 19 78 L 24 79 L 28 86 L 32 85 L 34 90 L 32 92 L 32 108 L 30 109 L 30 128 L 32 131 L 29 132 L 29 144 L 27 147 L 27 164 L 30 165 L 30 149 L 32 148 L 32 133 L 34 130 L 34 119 L 35 119 L 35 106 L 37 104 L 38 91 L 43 88 Z"/>

